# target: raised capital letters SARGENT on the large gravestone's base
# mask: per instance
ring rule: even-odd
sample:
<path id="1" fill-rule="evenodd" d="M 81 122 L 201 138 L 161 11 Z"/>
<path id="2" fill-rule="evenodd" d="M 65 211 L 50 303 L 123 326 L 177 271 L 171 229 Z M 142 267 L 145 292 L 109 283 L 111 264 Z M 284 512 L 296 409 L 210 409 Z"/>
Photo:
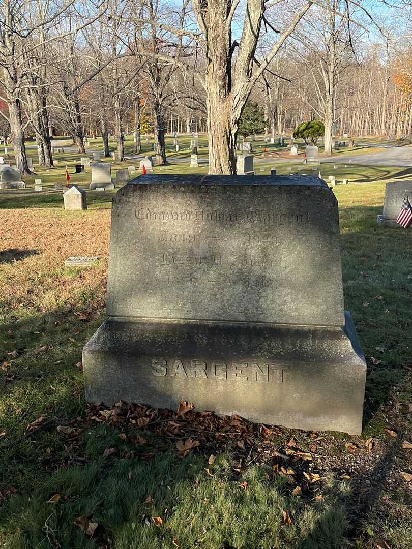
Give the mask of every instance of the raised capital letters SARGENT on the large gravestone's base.
<path id="1" fill-rule="evenodd" d="M 283 374 L 290 370 L 286 364 L 276 362 L 221 362 L 152 359 L 152 374 L 160 377 L 192 379 L 226 379 L 240 383 L 283 383 Z"/>

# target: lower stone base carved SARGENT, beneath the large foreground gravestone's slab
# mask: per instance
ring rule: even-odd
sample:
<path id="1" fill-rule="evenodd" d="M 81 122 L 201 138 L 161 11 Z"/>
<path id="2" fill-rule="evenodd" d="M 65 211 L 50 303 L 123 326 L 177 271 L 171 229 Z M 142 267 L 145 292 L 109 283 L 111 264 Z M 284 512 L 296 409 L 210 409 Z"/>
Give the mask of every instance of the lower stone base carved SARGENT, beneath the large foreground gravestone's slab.
<path id="1" fill-rule="evenodd" d="M 83 349 L 86 400 L 360 434 L 366 363 L 339 328 L 108 317 Z"/>

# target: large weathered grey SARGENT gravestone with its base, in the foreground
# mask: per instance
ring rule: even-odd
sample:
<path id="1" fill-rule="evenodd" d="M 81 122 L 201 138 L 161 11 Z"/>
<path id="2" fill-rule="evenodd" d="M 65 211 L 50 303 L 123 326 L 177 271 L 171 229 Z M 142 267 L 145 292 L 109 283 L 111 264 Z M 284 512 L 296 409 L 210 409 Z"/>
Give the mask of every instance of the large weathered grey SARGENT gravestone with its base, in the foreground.
<path id="1" fill-rule="evenodd" d="M 107 317 L 82 355 L 88 402 L 176 410 L 184 395 L 360 434 L 366 363 L 324 182 L 149 175 L 115 195 L 111 226 Z"/>

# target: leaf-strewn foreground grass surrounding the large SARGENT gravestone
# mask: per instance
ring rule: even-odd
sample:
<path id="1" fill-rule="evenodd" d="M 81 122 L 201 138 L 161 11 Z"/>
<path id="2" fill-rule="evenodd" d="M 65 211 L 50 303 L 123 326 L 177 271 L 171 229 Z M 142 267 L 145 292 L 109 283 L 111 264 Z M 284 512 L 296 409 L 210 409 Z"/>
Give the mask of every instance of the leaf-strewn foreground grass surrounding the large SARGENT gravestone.
<path id="1" fill-rule="evenodd" d="M 86 407 L 81 349 L 104 317 L 110 211 L 1 210 L 0 546 L 410 549 L 412 236 L 377 227 L 384 188 L 335 188 L 368 361 L 359 437 Z M 67 269 L 70 255 L 99 261 Z"/>

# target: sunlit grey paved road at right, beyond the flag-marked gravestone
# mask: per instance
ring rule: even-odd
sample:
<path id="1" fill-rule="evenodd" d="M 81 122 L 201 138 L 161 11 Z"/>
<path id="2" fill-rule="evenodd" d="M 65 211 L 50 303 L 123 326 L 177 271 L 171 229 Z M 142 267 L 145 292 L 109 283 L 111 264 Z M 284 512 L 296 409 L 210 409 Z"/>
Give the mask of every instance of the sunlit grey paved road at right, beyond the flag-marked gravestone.
<path id="1" fill-rule="evenodd" d="M 380 145 L 372 145 L 380 147 Z M 334 162 L 336 164 L 365 164 L 374 166 L 412 166 L 412 147 L 385 147 L 385 150 L 375 153 L 345 154 L 322 158 L 321 163 Z"/>

